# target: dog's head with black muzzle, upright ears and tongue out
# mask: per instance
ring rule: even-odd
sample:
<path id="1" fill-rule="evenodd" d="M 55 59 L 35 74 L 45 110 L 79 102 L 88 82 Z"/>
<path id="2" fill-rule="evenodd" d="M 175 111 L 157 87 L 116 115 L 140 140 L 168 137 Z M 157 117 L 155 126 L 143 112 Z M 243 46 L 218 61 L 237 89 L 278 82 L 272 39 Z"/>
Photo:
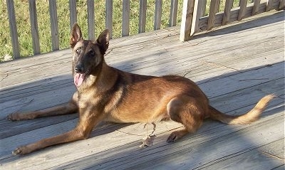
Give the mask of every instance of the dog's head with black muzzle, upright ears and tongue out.
<path id="1" fill-rule="evenodd" d="M 106 29 L 96 41 L 83 40 L 81 28 L 74 23 L 71 30 L 74 84 L 79 87 L 89 76 L 98 74 L 109 46 L 109 31 Z"/>

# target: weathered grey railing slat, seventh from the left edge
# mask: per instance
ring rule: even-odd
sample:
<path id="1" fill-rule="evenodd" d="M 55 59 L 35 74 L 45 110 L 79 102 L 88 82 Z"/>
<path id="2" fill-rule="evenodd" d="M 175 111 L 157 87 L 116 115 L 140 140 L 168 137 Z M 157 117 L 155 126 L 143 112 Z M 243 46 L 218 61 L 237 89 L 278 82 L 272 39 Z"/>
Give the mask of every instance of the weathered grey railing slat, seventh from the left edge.
<path id="1" fill-rule="evenodd" d="M 122 36 L 130 34 L 130 0 L 123 1 Z"/>

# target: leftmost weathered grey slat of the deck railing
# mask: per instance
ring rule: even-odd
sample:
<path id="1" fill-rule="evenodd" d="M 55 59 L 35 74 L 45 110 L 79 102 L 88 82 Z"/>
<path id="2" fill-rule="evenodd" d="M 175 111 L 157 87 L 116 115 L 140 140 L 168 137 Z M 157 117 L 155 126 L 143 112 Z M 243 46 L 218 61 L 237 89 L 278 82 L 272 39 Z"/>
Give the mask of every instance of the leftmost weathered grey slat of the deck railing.
<path id="1" fill-rule="evenodd" d="M 9 28 L 10 28 L 10 36 L 11 43 L 13 47 L 13 59 L 20 58 L 20 48 L 18 41 L 18 31 L 16 26 L 16 16 L 14 9 L 14 0 L 6 0 L 7 10 L 8 10 L 8 18 L 9 18 Z"/>

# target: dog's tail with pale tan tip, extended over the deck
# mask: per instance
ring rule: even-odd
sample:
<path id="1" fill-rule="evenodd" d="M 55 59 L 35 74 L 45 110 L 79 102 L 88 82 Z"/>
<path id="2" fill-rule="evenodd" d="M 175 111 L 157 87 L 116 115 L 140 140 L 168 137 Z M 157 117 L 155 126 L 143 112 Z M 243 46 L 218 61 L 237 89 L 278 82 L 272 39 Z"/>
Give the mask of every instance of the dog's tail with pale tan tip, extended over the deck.
<path id="1" fill-rule="evenodd" d="M 225 115 L 209 105 L 209 117 L 219 122 L 223 122 L 224 124 L 250 124 L 259 119 L 259 115 L 261 115 L 265 107 L 274 97 L 275 95 L 266 95 L 262 97 L 252 110 L 239 116 Z"/>

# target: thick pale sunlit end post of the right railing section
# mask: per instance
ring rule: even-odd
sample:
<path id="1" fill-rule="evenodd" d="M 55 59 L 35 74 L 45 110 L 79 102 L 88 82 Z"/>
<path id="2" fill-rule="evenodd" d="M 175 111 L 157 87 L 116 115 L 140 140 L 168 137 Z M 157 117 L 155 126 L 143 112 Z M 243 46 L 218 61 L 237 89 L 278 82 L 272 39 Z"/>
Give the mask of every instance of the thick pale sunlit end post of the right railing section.
<path id="1" fill-rule="evenodd" d="M 188 41 L 192 36 L 191 28 L 195 1 L 199 0 L 183 0 L 180 41 Z"/>

